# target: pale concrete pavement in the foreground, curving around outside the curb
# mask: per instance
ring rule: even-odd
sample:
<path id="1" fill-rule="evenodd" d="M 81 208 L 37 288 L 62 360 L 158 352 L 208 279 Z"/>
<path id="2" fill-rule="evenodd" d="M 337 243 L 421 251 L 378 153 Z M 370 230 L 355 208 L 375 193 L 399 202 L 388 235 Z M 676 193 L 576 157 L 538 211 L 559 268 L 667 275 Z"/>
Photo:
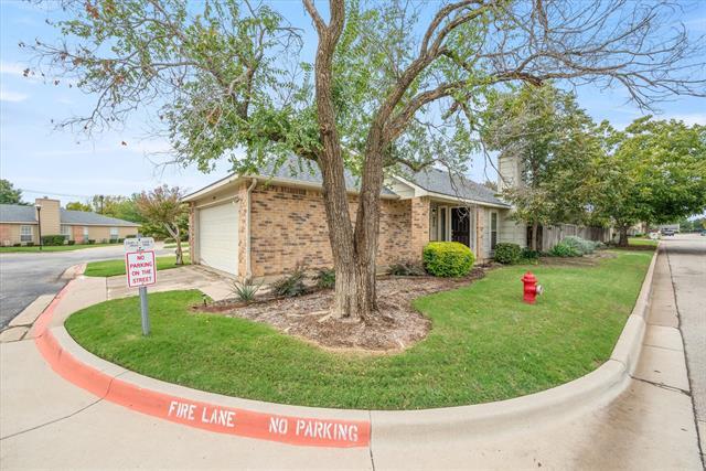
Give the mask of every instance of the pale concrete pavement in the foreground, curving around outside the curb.
<path id="1" fill-rule="evenodd" d="M 643 355 L 628 388 L 605 407 L 564 421 L 443 442 L 373 435 L 370 448 L 301 448 L 188 428 L 92 396 L 50 370 L 31 341 L 0 345 L 0 460 L 20 468 L 175 469 L 700 469 L 668 264 L 660 256 Z M 105 299 L 60 303 L 55 321 Z M 69 302 L 71 301 L 71 302 Z"/>

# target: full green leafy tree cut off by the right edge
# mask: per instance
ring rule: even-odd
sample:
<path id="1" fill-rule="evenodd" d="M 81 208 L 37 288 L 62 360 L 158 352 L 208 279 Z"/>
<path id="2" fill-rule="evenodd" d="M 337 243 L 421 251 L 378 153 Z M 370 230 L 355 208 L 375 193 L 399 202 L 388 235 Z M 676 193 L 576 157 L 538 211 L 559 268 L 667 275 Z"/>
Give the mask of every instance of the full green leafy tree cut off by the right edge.
<path id="1" fill-rule="evenodd" d="M 706 210 L 706 127 L 634 120 L 612 136 L 613 150 L 593 171 L 596 213 L 620 232 L 638 222 L 663 224 Z"/>

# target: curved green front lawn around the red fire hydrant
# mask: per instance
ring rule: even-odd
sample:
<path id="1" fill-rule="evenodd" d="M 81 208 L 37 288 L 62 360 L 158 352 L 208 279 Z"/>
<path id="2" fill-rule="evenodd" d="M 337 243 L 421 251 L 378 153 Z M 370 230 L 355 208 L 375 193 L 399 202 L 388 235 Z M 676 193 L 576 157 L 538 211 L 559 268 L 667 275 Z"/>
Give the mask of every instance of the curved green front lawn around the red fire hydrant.
<path id="1" fill-rule="evenodd" d="M 634 306 L 652 253 L 616 251 L 595 267 L 514 266 L 419 298 L 428 338 L 394 355 L 332 353 L 244 319 L 195 314 L 196 290 L 106 301 L 66 321 L 71 335 L 147 376 L 238 397 L 307 406 L 415 409 L 536 393 L 602 364 Z M 521 301 L 531 268 L 545 295 Z"/>

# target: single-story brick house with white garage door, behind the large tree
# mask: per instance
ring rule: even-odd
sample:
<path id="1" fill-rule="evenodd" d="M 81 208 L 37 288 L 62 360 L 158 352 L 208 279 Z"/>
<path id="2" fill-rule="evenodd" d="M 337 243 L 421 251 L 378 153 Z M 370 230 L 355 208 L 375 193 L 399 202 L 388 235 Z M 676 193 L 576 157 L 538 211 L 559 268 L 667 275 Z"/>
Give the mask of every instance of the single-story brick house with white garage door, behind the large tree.
<path id="1" fill-rule="evenodd" d="M 357 181 L 346 173 L 354 218 Z M 495 244 L 524 244 L 525 228 L 486 186 L 437 169 L 389 176 L 382 193 L 377 261 L 420 260 L 430 240 L 457 240 L 478 260 Z M 332 266 L 321 176 L 290 161 L 259 175 L 229 175 L 184 197 L 191 207 L 192 260 L 245 278 L 277 276 L 298 264 Z"/>

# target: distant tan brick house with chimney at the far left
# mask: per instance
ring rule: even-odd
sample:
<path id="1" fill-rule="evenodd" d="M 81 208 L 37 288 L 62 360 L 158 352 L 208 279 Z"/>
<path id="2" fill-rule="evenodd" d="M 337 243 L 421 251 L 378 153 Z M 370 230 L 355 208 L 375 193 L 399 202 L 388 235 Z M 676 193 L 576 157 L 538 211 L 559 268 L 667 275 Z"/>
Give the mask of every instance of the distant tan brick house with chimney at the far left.
<path id="1" fill-rule="evenodd" d="M 66 240 L 75 240 L 76 244 L 136 236 L 140 226 L 101 214 L 64 210 L 58 200 L 39 197 L 32 206 L 0 204 L 0 245 L 39 245 L 38 205 L 41 206 L 42 236 L 63 235 Z"/>

